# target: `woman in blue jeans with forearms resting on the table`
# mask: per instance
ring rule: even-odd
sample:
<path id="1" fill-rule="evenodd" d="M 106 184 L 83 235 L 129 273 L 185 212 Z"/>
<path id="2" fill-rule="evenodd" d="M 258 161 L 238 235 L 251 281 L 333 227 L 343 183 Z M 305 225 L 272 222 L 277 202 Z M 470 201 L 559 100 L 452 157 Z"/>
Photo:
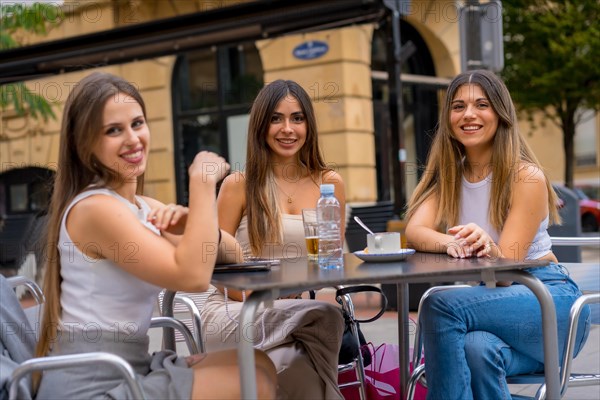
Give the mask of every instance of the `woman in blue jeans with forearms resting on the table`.
<path id="1" fill-rule="evenodd" d="M 528 271 L 550 291 L 564 343 L 569 310 L 581 292 L 552 253 L 547 228 L 560 223 L 556 204 L 550 182 L 519 133 L 504 83 L 483 70 L 454 78 L 426 170 L 409 202 L 410 246 L 456 258 L 549 261 Z M 428 399 L 510 399 L 507 376 L 543 371 L 535 295 L 512 282 L 498 286 L 445 290 L 425 301 L 420 322 Z M 589 325 L 586 307 L 577 351 Z"/>

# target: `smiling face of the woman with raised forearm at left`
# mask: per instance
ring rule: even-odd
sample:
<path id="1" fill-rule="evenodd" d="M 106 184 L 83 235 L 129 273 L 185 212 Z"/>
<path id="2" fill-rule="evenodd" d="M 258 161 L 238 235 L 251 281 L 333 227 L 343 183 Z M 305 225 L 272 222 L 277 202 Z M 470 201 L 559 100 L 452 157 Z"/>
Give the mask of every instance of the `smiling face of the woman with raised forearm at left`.
<path id="1" fill-rule="evenodd" d="M 118 93 L 104 105 L 102 131 L 94 155 L 123 181 L 135 181 L 146 170 L 150 131 L 140 104 Z"/>

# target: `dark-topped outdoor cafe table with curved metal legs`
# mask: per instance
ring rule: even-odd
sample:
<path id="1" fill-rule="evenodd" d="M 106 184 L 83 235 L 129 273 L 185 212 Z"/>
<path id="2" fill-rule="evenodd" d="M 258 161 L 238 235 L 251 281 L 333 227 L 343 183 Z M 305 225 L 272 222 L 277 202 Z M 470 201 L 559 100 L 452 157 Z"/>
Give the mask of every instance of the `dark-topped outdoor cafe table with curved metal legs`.
<path id="1" fill-rule="evenodd" d="M 408 284 L 448 281 L 484 281 L 490 287 L 496 281 L 514 281 L 527 286 L 542 308 L 544 336 L 544 373 L 547 398 L 558 399 L 559 367 L 556 311 L 544 284 L 525 268 L 542 267 L 547 261 L 513 261 L 508 259 L 455 259 L 445 254 L 415 253 L 403 261 L 365 263 L 354 254 L 344 255 L 339 269 L 320 269 L 306 258 L 282 259 L 269 272 L 235 272 L 214 274 L 214 285 L 237 290 L 251 290 L 239 316 L 241 327 L 254 324 L 261 303 L 301 291 L 360 283 L 396 283 L 398 295 L 398 344 L 400 346 L 400 393 L 406 398 L 409 379 L 409 312 Z M 238 357 L 243 399 L 256 399 L 256 372 L 251 338 L 240 335 Z M 250 335 L 249 335 L 250 336 Z"/>

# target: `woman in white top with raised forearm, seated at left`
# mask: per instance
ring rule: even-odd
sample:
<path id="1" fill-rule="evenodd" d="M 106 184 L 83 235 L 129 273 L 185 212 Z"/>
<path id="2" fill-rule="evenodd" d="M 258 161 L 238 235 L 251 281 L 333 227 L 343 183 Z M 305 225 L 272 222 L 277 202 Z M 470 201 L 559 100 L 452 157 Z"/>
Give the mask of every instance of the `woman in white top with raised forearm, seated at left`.
<path id="1" fill-rule="evenodd" d="M 239 382 L 231 379 L 239 374 L 235 351 L 150 355 L 147 334 L 162 288 L 206 290 L 218 260 L 241 258 L 221 250 L 235 240 L 217 223 L 216 186 L 229 165 L 214 153 L 199 153 L 189 167 L 189 208 L 165 205 L 141 195 L 149 151 L 136 88 L 106 73 L 82 79 L 64 108 L 36 353 L 119 355 L 149 399 L 239 398 Z M 217 244 L 212 248 L 219 251 L 199 257 L 198 243 Z M 262 352 L 256 356 L 259 396 L 274 398 L 273 364 Z M 115 372 L 97 365 L 48 371 L 37 398 L 129 398 Z"/>

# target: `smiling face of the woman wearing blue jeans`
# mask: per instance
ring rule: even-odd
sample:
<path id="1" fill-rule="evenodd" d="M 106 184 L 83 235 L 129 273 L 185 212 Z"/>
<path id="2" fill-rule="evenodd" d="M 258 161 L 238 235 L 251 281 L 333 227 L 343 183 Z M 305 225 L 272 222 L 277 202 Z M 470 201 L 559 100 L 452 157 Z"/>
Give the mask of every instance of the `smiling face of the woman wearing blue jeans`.
<path id="1" fill-rule="evenodd" d="M 458 88 L 452 99 L 450 126 L 467 152 L 492 147 L 498 114 L 479 85 L 465 84 Z"/>

